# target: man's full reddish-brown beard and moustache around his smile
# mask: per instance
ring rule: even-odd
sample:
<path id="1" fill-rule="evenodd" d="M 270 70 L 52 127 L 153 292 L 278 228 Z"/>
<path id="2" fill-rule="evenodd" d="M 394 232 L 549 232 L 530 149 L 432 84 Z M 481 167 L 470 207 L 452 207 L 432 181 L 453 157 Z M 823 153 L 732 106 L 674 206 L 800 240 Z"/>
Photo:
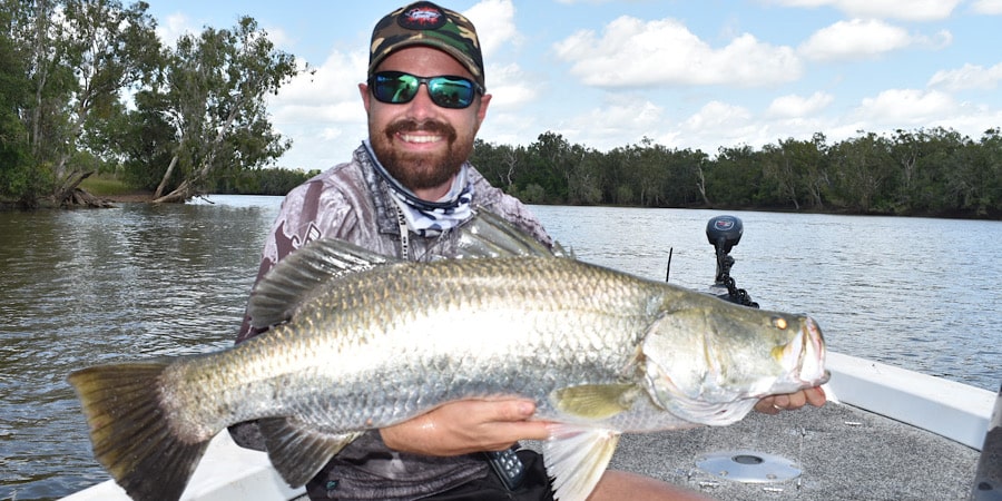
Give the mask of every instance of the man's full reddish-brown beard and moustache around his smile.
<path id="1" fill-rule="evenodd" d="M 446 148 L 441 154 L 413 154 L 393 148 L 395 136 L 401 132 L 428 131 L 445 138 Z M 442 121 L 400 120 L 374 130 L 370 124 L 369 137 L 380 164 L 400 184 L 414 191 L 431 189 L 449 183 L 473 153 L 473 138 L 460 138 L 451 125 Z"/>

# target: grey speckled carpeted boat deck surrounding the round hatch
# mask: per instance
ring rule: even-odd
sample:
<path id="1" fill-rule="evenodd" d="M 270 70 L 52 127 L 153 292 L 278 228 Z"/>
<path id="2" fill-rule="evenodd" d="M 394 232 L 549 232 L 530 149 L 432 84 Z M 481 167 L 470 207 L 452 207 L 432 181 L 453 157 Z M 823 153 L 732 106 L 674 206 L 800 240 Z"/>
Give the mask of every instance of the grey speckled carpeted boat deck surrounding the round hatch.
<path id="1" fill-rule="evenodd" d="M 711 475 L 706 454 L 753 450 L 803 473 L 773 483 Z M 686 485 L 719 500 L 966 500 L 979 451 L 846 404 L 766 415 L 723 428 L 623 435 L 610 468 Z"/>

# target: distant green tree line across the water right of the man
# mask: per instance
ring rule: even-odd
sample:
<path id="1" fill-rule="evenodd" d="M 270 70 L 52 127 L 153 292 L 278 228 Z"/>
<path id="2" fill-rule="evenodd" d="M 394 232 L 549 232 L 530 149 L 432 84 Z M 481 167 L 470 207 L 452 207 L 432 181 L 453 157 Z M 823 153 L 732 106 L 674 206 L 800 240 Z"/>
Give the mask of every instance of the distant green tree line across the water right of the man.
<path id="1" fill-rule="evenodd" d="M 599 151 L 548 131 L 528 147 L 478 140 L 474 165 L 525 202 L 846 214 L 1002 217 L 1002 131 L 859 131 L 828 144 L 667 148 L 645 138 Z"/>

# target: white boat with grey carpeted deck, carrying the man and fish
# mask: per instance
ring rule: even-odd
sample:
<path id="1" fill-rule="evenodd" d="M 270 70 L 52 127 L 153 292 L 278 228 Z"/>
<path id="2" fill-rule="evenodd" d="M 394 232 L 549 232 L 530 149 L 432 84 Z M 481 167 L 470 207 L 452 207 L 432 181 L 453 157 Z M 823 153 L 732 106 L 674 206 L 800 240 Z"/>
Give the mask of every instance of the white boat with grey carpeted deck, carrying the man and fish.
<path id="1" fill-rule="evenodd" d="M 1002 392 L 831 351 L 826 367 L 832 377 L 824 407 L 753 412 L 723 428 L 625 435 L 610 468 L 723 500 L 1002 500 Z M 109 480 L 63 501 L 128 499 Z M 181 499 L 281 501 L 305 494 L 286 485 L 265 453 L 242 449 L 223 432 Z"/>

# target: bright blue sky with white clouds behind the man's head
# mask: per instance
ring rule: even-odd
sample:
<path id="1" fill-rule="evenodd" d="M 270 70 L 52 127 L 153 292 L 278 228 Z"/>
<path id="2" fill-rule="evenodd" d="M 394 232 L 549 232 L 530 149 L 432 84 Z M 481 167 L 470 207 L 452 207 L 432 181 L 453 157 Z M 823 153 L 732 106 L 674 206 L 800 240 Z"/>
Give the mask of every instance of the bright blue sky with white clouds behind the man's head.
<path id="1" fill-rule="evenodd" d="M 357 84 L 400 1 L 147 0 L 161 38 L 255 18 L 316 69 L 269 99 L 279 166 L 325 169 L 365 137 Z M 1002 127 L 1002 0 L 442 1 L 477 26 L 493 100 L 480 137 L 703 149 L 858 130 Z"/>

